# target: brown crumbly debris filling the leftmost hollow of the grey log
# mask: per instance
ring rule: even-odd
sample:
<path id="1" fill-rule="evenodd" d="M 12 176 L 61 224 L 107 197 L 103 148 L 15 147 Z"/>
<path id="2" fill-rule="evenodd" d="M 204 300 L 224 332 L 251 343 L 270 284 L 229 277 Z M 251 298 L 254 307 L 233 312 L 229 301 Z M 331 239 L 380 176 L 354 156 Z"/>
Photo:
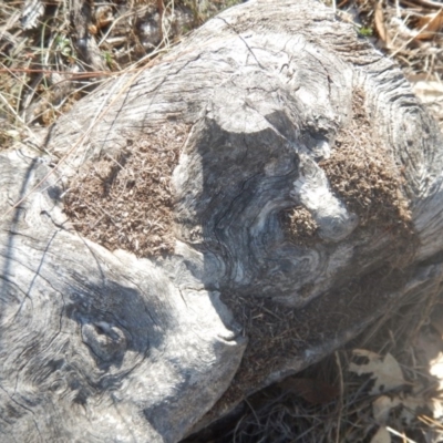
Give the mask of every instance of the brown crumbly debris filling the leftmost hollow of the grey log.
<path id="1" fill-rule="evenodd" d="M 70 183 L 64 210 L 84 237 L 138 257 L 174 250 L 171 177 L 188 128 L 166 124 L 128 140 L 119 158 L 87 164 Z"/>

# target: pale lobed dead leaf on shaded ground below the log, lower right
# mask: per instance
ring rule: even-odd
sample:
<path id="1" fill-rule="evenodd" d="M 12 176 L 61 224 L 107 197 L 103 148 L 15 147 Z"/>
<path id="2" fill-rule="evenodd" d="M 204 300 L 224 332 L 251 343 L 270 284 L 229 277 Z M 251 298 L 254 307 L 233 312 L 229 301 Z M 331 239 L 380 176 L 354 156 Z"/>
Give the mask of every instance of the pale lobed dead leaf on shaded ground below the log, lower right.
<path id="1" fill-rule="evenodd" d="M 351 362 L 349 371 L 358 375 L 372 373 L 371 378 L 374 379 L 374 385 L 370 392 L 371 394 L 388 392 L 405 383 L 400 364 L 390 353 L 387 353 L 384 358 L 364 349 L 354 349 L 352 353 L 356 357 L 365 357 L 369 359 L 369 362 L 365 364 Z"/>

